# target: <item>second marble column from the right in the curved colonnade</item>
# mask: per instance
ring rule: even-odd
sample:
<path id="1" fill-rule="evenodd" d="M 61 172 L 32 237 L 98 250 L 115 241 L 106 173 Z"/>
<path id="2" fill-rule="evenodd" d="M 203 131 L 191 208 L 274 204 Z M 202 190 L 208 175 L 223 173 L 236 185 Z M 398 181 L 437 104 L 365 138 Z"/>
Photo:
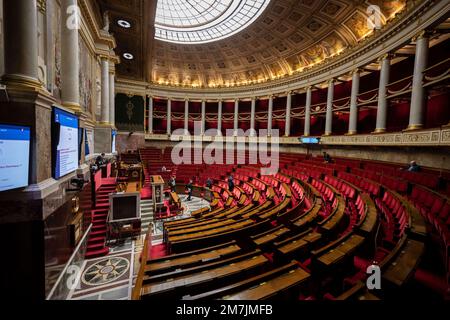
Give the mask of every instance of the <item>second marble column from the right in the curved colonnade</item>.
<path id="1" fill-rule="evenodd" d="M 386 54 L 380 59 L 381 71 L 380 71 L 380 84 L 378 88 L 378 106 L 377 106 L 377 125 L 375 133 L 386 132 L 386 120 L 387 120 L 387 86 L 389 84 L 389 74 L 391 71 L 391 55 Z"/>

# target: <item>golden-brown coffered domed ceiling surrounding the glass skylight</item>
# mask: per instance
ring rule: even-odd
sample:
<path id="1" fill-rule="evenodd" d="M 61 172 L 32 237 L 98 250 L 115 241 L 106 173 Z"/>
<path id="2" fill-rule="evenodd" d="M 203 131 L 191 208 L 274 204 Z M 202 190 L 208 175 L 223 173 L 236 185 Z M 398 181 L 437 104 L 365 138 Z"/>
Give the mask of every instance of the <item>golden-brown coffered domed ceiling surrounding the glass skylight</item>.
<path id="1" fill-rule="evenodd" d="M 205 44 L 154 39 L 156 0 L 98 0 L 122 59 L 118 75 L 171 86 L 216 87 L 269 81 L 338 55 L 371 33 L 368 17 L 386 24 L 406 0 L 271 0 L 243 31 Z M 369 8 L 369 9 L 368 9 Z M 374 8 L 375 11 L 370 11 Z M 369 10 L 369 11 L 368 11 Z M 117 21 L 130 22 L 128 29 Z"/>

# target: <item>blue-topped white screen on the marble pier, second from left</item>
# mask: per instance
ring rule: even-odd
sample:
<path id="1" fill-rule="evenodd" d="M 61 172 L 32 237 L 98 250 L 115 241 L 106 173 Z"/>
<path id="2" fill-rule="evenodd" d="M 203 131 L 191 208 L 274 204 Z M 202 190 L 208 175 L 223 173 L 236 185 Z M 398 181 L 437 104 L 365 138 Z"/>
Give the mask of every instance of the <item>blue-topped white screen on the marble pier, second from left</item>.
<path id="1" fill-rule="evenodd" d="M 53 172 L 59 179 L 78 169 L 78 117 L 59 108 L 53 109 Z"/>

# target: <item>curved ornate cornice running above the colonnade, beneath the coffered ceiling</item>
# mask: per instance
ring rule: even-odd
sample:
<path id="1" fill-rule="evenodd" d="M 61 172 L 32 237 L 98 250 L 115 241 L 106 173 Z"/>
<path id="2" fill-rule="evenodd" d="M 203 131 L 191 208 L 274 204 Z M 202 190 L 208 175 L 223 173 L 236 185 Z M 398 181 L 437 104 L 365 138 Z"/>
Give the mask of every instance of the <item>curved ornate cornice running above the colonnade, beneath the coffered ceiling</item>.
<path id="1" fill-rule="evenodd" d="M 407 10 L 402 16 L 387 25 L 382 32 L 377 31 L 366 38 L 360 45 L 340 54 L 336 59 L 325 61 L 300 74 L 277 79 L 264 84 L 243 87 L 221 88 L 183 88 L 159 84 L 148 84 L 148 92 L 156 96 L 172 96 L 176 99 L 224 99 L 246 98 L 252 96 L 268 96 L 299 90 L 308 86 L 324 83 L 330 78 L 350 73 L 355 68 L 361 68 L 371 63 L 374 57 L 395 51 L 409 43 L 418 30 L 424 30 L 441 19 L 450 9 L 447 1 L 425 0 L 417 7 Z M 121 79 L 127 82 L 125 79 Z"/>

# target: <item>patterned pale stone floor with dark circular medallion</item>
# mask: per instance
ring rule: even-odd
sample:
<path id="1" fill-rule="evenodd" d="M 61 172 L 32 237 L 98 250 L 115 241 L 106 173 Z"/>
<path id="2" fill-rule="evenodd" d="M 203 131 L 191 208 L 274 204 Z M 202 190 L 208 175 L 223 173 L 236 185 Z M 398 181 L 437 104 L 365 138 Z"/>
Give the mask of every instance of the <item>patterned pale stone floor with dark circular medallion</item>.
<path id="1" fill-rule="evenodd" d="M 180 195 L 184 208 L 183 214 L 168 220 L 189 217 L 191 212 L 209 203 L 186 195 Z M 69 300 L 129 300 L 139 271 L 139 256 L 144 245 L 145 235 L 152 226 L 152 244 L 162 242 L 163 221 L 154 221 L 151 200 L 141 201 L 142 230 L 136 239 L 127 239 L 111 247 L 110 254 L 96 259 L 86 260 L 82 266 L 81 278 L 72 289 Z"/>

